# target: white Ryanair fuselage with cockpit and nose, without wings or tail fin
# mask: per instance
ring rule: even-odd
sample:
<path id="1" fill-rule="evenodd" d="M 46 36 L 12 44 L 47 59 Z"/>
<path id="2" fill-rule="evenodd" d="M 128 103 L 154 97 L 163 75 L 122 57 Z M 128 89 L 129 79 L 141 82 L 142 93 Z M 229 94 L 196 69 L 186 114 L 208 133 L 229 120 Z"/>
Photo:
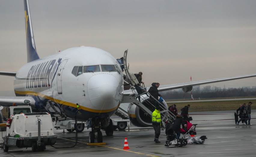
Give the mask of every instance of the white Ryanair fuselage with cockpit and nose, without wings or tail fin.
<path id="1" fill-rule="evenodd" d="M 35 109 L 80 121 L 110 117 L 123 97 L 120 64 L 108 52 L 74 47 L 24 65 L 14 80 L 16 96 L 32 96 Z"/>

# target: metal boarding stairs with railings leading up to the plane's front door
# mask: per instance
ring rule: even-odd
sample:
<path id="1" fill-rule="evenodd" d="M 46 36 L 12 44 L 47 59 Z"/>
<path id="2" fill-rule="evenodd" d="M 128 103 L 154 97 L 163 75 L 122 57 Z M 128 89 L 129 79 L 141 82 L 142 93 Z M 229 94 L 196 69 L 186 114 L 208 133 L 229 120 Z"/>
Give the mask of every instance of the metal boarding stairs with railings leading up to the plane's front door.
<path id="1" fill-rule="evenodd" d="M 142 111 L 145 112 L 145 114 L 151 116 L 152 112 L 154 111 L 155 107 L 149 100 L 150 97 L 150 93 L 147 92 L 146 89 L 142 89 L 143 93 L 140 95 L 137 95 L 137 93 L 135 92 L 135 87 L 139 82 L 137 80 L 137 78 L 134 76 L 133 73 L 129 72 L 129 64 L 127 66 L 126 63 L 126 57 L 127 57 L 127 52 L 128 50 L 126 50 L 124 52 L 124 57 L 123 57 L 123 65 L 124 65 L 124 71 L 126 73 L 126 80 L 124 82 L 124 84 L 126 84 L 126 86 L 130 86 L 130 89 L 132 90 L 132 94 L 123 94 L 123 100 L 122 103 L 120 104 L 119 108 L 116 111 L 116 115 L 123 118 L 123 119 L 129 119 L 129 115 L 128 115 L 128 106 L 130 103 L 135 104 L 136 106 L 138 106 L 140 109 L 142 109 Z M 139 100 L 137 100 L 136 97 L 140 96 L 142 99 L 141 103 Z M 154 98 L 154 97 L 152 97 Z M 155 101 L 158 101 L 155 99 Z M 166 109 L 166 107 L 160 105 L 160 107 L 162 108 L 163 111 L 161 111 L 161 113 L 163 113 L 163 119 L 164 120 L 169 120 L 169 118 L 174 118 L 175 115 L 171 115 L 168 112 L 168 109 Z M 165 113 L 166 112 L 166 113 Z"/>

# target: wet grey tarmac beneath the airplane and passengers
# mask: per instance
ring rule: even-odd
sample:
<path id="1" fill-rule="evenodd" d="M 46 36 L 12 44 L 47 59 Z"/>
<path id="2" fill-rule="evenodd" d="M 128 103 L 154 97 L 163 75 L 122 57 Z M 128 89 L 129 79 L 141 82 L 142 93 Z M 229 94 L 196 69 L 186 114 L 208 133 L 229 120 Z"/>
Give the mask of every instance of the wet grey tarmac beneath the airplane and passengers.
<path id="1" fill-rule="evenodd" d="M 46 146 L 44 152 L 32 152 L 31 148 L 9 148 L 4 152 L 1 148 L 0 157 L 80 157 L 80 156 L 179 156 L 179 157 L 215 157 L 215 156 L 246 156 L 256 154 L 256 120 L 251 119 L 253 125 L 235 125 L 234 111 L 194 112 L 190 113 L 196 126 L 197 135 L 206 135 L 204 144 L 187 144 L 184 147 L 165 147 L 166 136 L 161 130 L 160 144 L 154 143 L 153 128 L 128 127 L 124 131 L 114 131 L 113 136 L 103 133 L 105 145 L 87 145 L 89 131 L 78 133 L 78 143 L 73 148 L 53 148 Z M 193 115 L 197 114 L 197 115 Z M 255 118 L 256 110 L 252 110 Z M 58 136 L 55 147 L 70 147 L 75 142 L 75 132 L 56 130 Z M 123 150 L 124 139 L 127 138 L 130 149 Z"/>

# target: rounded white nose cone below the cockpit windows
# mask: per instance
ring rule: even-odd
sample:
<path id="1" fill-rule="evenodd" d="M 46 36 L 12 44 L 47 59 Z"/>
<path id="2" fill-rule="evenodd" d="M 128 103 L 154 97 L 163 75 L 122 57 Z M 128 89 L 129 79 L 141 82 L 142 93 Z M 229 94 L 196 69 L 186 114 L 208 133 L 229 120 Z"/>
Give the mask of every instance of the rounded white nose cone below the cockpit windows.
<path id="1" fill-rule="evenodd" d="M 120 81 L 111 74 L 97 74 L 91 77 L 87 91 L 92 105 L 101 110 L 113 109 L 119 103 Z"/>

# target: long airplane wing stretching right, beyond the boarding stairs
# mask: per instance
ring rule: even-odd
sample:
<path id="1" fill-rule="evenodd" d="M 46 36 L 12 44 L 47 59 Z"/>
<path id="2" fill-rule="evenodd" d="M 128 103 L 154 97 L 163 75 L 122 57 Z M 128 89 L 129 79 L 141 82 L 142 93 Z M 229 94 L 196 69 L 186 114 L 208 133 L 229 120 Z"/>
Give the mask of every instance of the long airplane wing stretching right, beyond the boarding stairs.
<path id="1" fill-rule="evenodd" d="M 194 81 L 194 82 L 186 82 L 186 83 L 177 83 L 177 84 L 170 84 L 170 85 L 163 85 L 158 87 L 158 91 L 168 91 L 172 89 L 179 89 L 182 88 L 183 92 L 190 92 L 193 88 L 193 86 L 199 86 L 209 83 L 216 83 L 216 82 L 224 82 L 224 81 L 230 81 L 230 80 L 238 80 L 243 78 L 249 78 L 249 77 L 256 77 L 256 74 L 248 74 L 248 75 L 240 75 L 240 76 L 233 76 L 233 77 L 223 77 L 223 78 L 217 78 L 217 79 L 211 79 L 211 80 L 202 80 L 202 81 Z M 147 88 L 149 89 L 149 88 Z M 131 90 L 125 90 L 123 91 L 124 94 L 132 94 L 133 92 Z"/>

